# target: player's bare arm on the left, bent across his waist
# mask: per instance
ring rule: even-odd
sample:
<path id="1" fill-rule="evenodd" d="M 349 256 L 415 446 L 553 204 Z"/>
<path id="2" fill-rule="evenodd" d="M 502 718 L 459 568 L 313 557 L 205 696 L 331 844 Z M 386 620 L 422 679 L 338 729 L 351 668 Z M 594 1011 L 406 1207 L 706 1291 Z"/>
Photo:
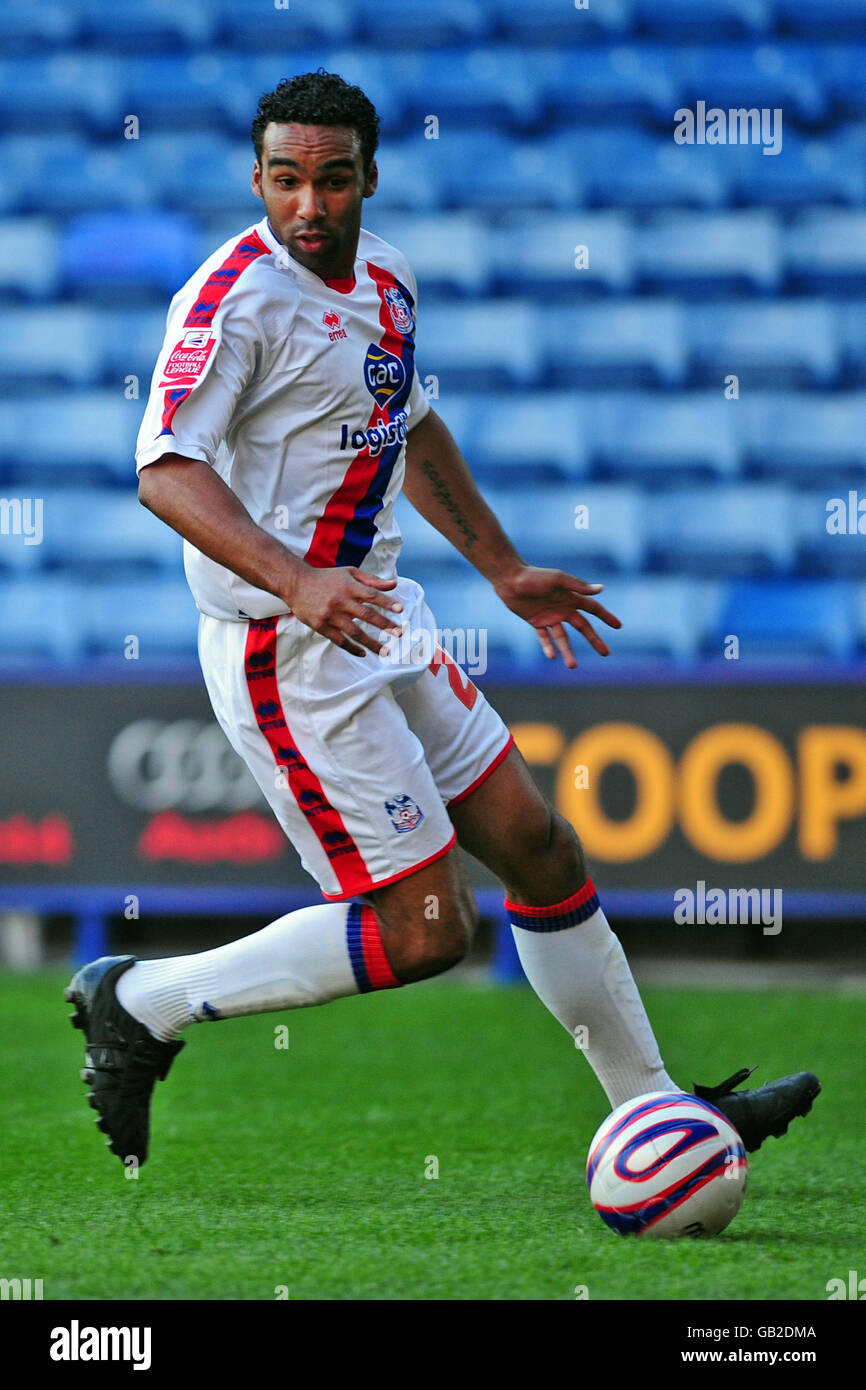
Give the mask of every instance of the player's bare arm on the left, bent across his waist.
<path id="1" fill-rule="evenodd" d="M 256 525 L 220 474 L 200 459 L 170 453 L 149 463 L 139 474 L 139 500 L 203 555 L 281 599 L 302 623 L 353 656 L 364 656 L 364 648 L 382 649 L 359 620 L 399 631 L 385 613 L 399 613 L 402 603 L 382 592 L 396 580 L 379 580 L 354 566 L 316 570 L 304 564 Z"/>

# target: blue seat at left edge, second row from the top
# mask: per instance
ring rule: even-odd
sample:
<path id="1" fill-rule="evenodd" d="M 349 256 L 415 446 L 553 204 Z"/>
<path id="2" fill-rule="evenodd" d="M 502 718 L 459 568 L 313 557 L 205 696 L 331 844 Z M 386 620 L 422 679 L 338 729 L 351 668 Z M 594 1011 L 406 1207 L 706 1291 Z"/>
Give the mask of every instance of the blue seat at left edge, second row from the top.
<path id="1" fill-rule="evenodd" d="M 51 113 L 51 129 L 117 135 L 124 117 L 121 70 L 101 53 L 57 53 L 0 61 L 0 125 L 32 131 Z"/>

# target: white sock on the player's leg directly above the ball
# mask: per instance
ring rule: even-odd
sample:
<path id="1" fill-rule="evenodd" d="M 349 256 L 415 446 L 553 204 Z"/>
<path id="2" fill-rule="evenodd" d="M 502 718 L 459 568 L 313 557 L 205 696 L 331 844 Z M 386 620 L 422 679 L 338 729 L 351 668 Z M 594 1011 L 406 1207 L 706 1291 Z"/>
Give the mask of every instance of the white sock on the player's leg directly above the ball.
<path id="1" fill-rule="evenodd" d="M 648 1091 L 678 1091 L 664 1070 L 623 948 L 588 878 L 564 902 L 509 902 L 525 976 L 550 1013 L 585 1052 L 616 1109 Z"/>

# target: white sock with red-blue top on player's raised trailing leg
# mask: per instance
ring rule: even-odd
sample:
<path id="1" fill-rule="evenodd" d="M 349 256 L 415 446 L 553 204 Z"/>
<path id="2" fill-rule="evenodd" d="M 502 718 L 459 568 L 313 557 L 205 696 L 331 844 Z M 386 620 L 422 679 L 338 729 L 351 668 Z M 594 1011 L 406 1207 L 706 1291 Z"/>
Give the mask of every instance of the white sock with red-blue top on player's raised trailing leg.
<path id="1" fill-rule="evenodd" d="M 299 1009 L 399 984 L 373 908 L 328 902 L 214 951 L 138 960 L 117 981 L 117 998 L 168 1042 L 188 1023 Z"/>

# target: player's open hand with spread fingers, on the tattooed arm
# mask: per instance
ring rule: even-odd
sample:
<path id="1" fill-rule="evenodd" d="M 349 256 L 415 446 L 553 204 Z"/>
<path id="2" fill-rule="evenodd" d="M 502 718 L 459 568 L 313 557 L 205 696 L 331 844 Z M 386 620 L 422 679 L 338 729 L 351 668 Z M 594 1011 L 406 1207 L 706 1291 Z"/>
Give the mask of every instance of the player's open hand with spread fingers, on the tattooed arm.
<path id="1" fill-rule="evenodd" d="M 566 666 L 574 670 L 577 657 L 571 651 L 564 623 L 574 627 L 599 656 L 610 656 L 610 648 L 581 610 L 599 617 L 607 627 L 623 626 L 614 613 L 591 596 L 601 594 L 603 587 L 603 584 L 588 584 L 587 580 L 578 580 L 564 570 L 539 570 L 534 564 L 524 564 L 509 578 L 496 582 L 495 589 L 512 613 L 525 619 L 535 628 L 545 656 L 555 662 L 559 652 Z"/>

